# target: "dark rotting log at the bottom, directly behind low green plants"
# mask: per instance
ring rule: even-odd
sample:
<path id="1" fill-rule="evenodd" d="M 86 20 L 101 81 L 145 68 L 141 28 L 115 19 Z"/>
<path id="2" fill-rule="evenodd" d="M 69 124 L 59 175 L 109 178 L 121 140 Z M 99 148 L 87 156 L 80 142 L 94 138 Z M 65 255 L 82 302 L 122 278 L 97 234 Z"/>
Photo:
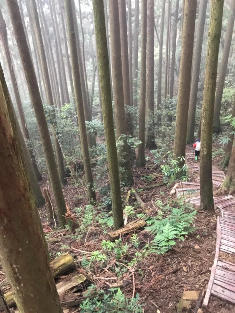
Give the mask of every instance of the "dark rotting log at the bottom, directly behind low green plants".
<path id="1" fill-rule="evenodd" d="M 127 286 L 129 285 L 130 282 L 129 281 L 125 281 L 124 285 Z M 105 289 L 105 293 L 109 293 L 109 289 L 111 288 L 122 288 L 123 287 L 123 282 L 118 282 L 115 284 L 110 284 L 108 287 L 106 287 Z M 97 288 L 97 290 L 92 294 L 89 295 L 89 299 L 93 299 L 95 297 L 97 297 L 97 291 L 100 290 L 100 288 Z M 82 301 L 86 300 L 87 298 L 87 291 L 82 292 L 81 294 L 79 293 L 72 293 L 69 295 L 65 295 L 65 297 L 62 299 L 61 301 L 61 305 L 62 307 L 70 307 L 70 306 L 75 306 L 75 305 L 80 305 L 82 303 Z M 98 298 L 98 300 L 102 300 L 102 296 L 100 298 Z"/>

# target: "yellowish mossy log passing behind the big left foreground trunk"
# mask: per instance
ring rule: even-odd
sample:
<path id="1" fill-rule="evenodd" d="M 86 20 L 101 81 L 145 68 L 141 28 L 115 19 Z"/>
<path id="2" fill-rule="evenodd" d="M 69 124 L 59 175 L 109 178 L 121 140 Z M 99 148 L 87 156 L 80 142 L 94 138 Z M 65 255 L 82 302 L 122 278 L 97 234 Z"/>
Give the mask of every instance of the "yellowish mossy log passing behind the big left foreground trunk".
<path id="1" fill-rule="evenodd" d="M 50 262 L 50 267 L 52 270 L 53 277 L 56 278 L 72 268 L 75 267 L 75 262 L 71 256 L 71 254 L 66 253 L 64 255 L 59 256 L 57 259 Z M 13 293 L 11 291 L 4 294 L 4 298 L 8 305 L 8 308 L 11 308 L 15 305 L 15 300 L 13 298 Z"/>

